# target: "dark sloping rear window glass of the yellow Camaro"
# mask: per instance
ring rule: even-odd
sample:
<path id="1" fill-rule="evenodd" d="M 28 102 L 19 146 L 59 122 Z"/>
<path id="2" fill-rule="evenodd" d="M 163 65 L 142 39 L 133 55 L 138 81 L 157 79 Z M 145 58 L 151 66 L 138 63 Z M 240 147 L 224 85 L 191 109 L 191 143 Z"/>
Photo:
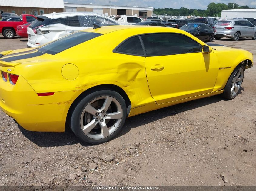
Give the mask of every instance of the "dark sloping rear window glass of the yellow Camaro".
<path id="1" fill-rule="evenodd" d="M 89 32 L 76 32 L 73 34 L 70 34 L 68 36 L 65 36 L 63 38 L 60 38 L 58 40 L 55 40 L 49 44 L 46 44 L 37 50 L 42 53 L 47 54 L 58 54 L 66 49 L 69 49 L 73 46 L 76 46 L 78 44 L 84 43 L 88 40 L 91 40 L 95 37 L 99 37 L 102 34 L 99 33 L 89 33 Z"/>

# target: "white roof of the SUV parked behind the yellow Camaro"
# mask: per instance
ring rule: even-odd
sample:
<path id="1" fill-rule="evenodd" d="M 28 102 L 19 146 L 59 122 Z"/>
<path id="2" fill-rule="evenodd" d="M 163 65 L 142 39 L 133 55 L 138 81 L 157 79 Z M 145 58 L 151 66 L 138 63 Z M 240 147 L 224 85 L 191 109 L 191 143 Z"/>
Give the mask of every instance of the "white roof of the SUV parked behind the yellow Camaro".
<path id="1" fill-rule="evenodd" d="M 45 16 L 45 17 L 48 17 L 48 18 L 51 18 L 51 19 L 55 19 L 55 18 L 63 18 L 63 17 L 71 17 L 71 16 L 79 16 L 79 15 L 101 16 L 101 17 L 108 18 L 108 17 L 106 17 L 106 16 L 103 15 L 103 14 L 93 13 L 93 12 L 49 13 L 49 14 L 38 15 L 37 17 Z"/>

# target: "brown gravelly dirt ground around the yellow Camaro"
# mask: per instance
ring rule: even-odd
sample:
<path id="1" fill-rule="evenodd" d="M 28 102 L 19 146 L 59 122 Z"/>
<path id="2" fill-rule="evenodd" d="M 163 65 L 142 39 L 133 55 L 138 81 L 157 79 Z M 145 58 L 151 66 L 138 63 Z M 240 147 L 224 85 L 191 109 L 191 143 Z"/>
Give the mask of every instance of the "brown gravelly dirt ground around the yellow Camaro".
<path id="1" fill-rule="evenodd" d="M 249 39 L 213 43 L 256 55 Z M 20 38 L 0 44 L 0 51 L 26 48 Z M 256 185 L 255 81 L 254 67 L 233 100 L 213 96 L 128 118 L 101 145 L 81 143 L 70 130 L 26 131 L 1 111 L 0 185 Z"/>

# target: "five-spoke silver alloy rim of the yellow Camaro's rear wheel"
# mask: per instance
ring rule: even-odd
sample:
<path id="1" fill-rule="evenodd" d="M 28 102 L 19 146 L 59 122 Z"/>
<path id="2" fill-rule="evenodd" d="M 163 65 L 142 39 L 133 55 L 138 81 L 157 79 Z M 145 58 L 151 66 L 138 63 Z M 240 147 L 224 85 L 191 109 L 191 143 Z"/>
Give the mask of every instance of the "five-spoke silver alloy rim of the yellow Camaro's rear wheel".
<path id="1" fill-rule="evenodd" d="M 81 129 L 89 138 L 102 139 L 115 132 L 122 116 L 118 100 L 110 96 L 97 97 L 85 106 L 80 118 Z"/>

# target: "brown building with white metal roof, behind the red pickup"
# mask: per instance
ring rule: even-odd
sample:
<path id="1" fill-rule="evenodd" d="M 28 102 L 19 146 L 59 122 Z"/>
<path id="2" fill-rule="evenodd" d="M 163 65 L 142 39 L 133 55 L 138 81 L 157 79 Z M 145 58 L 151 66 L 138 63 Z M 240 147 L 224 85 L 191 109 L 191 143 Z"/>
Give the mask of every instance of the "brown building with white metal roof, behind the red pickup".
<path id="1" fill-rule="evenodd" d="M 36 16 L 63 11 L 63 0 L 0 0 L 0 13 L 33 14 Z"/>

